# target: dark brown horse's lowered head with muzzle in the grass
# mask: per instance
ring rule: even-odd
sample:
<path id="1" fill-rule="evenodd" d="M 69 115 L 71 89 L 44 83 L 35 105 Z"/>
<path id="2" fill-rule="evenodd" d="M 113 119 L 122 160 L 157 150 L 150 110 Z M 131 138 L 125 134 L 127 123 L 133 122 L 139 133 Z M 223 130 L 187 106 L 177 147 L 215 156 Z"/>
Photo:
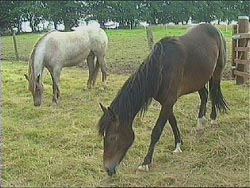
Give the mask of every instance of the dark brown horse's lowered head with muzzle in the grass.
<path id="1" fill-rule="evenodd" d="M 132 126 L 124 125 L 110 109 L 101 108 L 104 115 L 99 121 L 99 134 L 103 136 L 103 165 L 109 176 L 116 173 L 116 167 L 122 161 L 134 141 Z"/>

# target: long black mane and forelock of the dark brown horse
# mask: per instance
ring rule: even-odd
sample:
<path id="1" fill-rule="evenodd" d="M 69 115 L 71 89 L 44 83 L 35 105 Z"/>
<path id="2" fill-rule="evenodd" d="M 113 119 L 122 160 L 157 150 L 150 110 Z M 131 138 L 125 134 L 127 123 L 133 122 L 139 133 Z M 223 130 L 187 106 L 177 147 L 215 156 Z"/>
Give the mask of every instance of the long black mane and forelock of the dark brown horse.
<path id="1" fill-rule="evenodd" d="M 124 83 L 110 105 L 111 110 L 118 116 L 121 124 L 131 124 L 135 115 L 143 114 L 157 94 L 161 82 L 162 44 L 158 42 L 154 49 Z M 110 124 L 110 118 L 104 114 L 99 121 L 99 133 L 103 135 Z"/>

